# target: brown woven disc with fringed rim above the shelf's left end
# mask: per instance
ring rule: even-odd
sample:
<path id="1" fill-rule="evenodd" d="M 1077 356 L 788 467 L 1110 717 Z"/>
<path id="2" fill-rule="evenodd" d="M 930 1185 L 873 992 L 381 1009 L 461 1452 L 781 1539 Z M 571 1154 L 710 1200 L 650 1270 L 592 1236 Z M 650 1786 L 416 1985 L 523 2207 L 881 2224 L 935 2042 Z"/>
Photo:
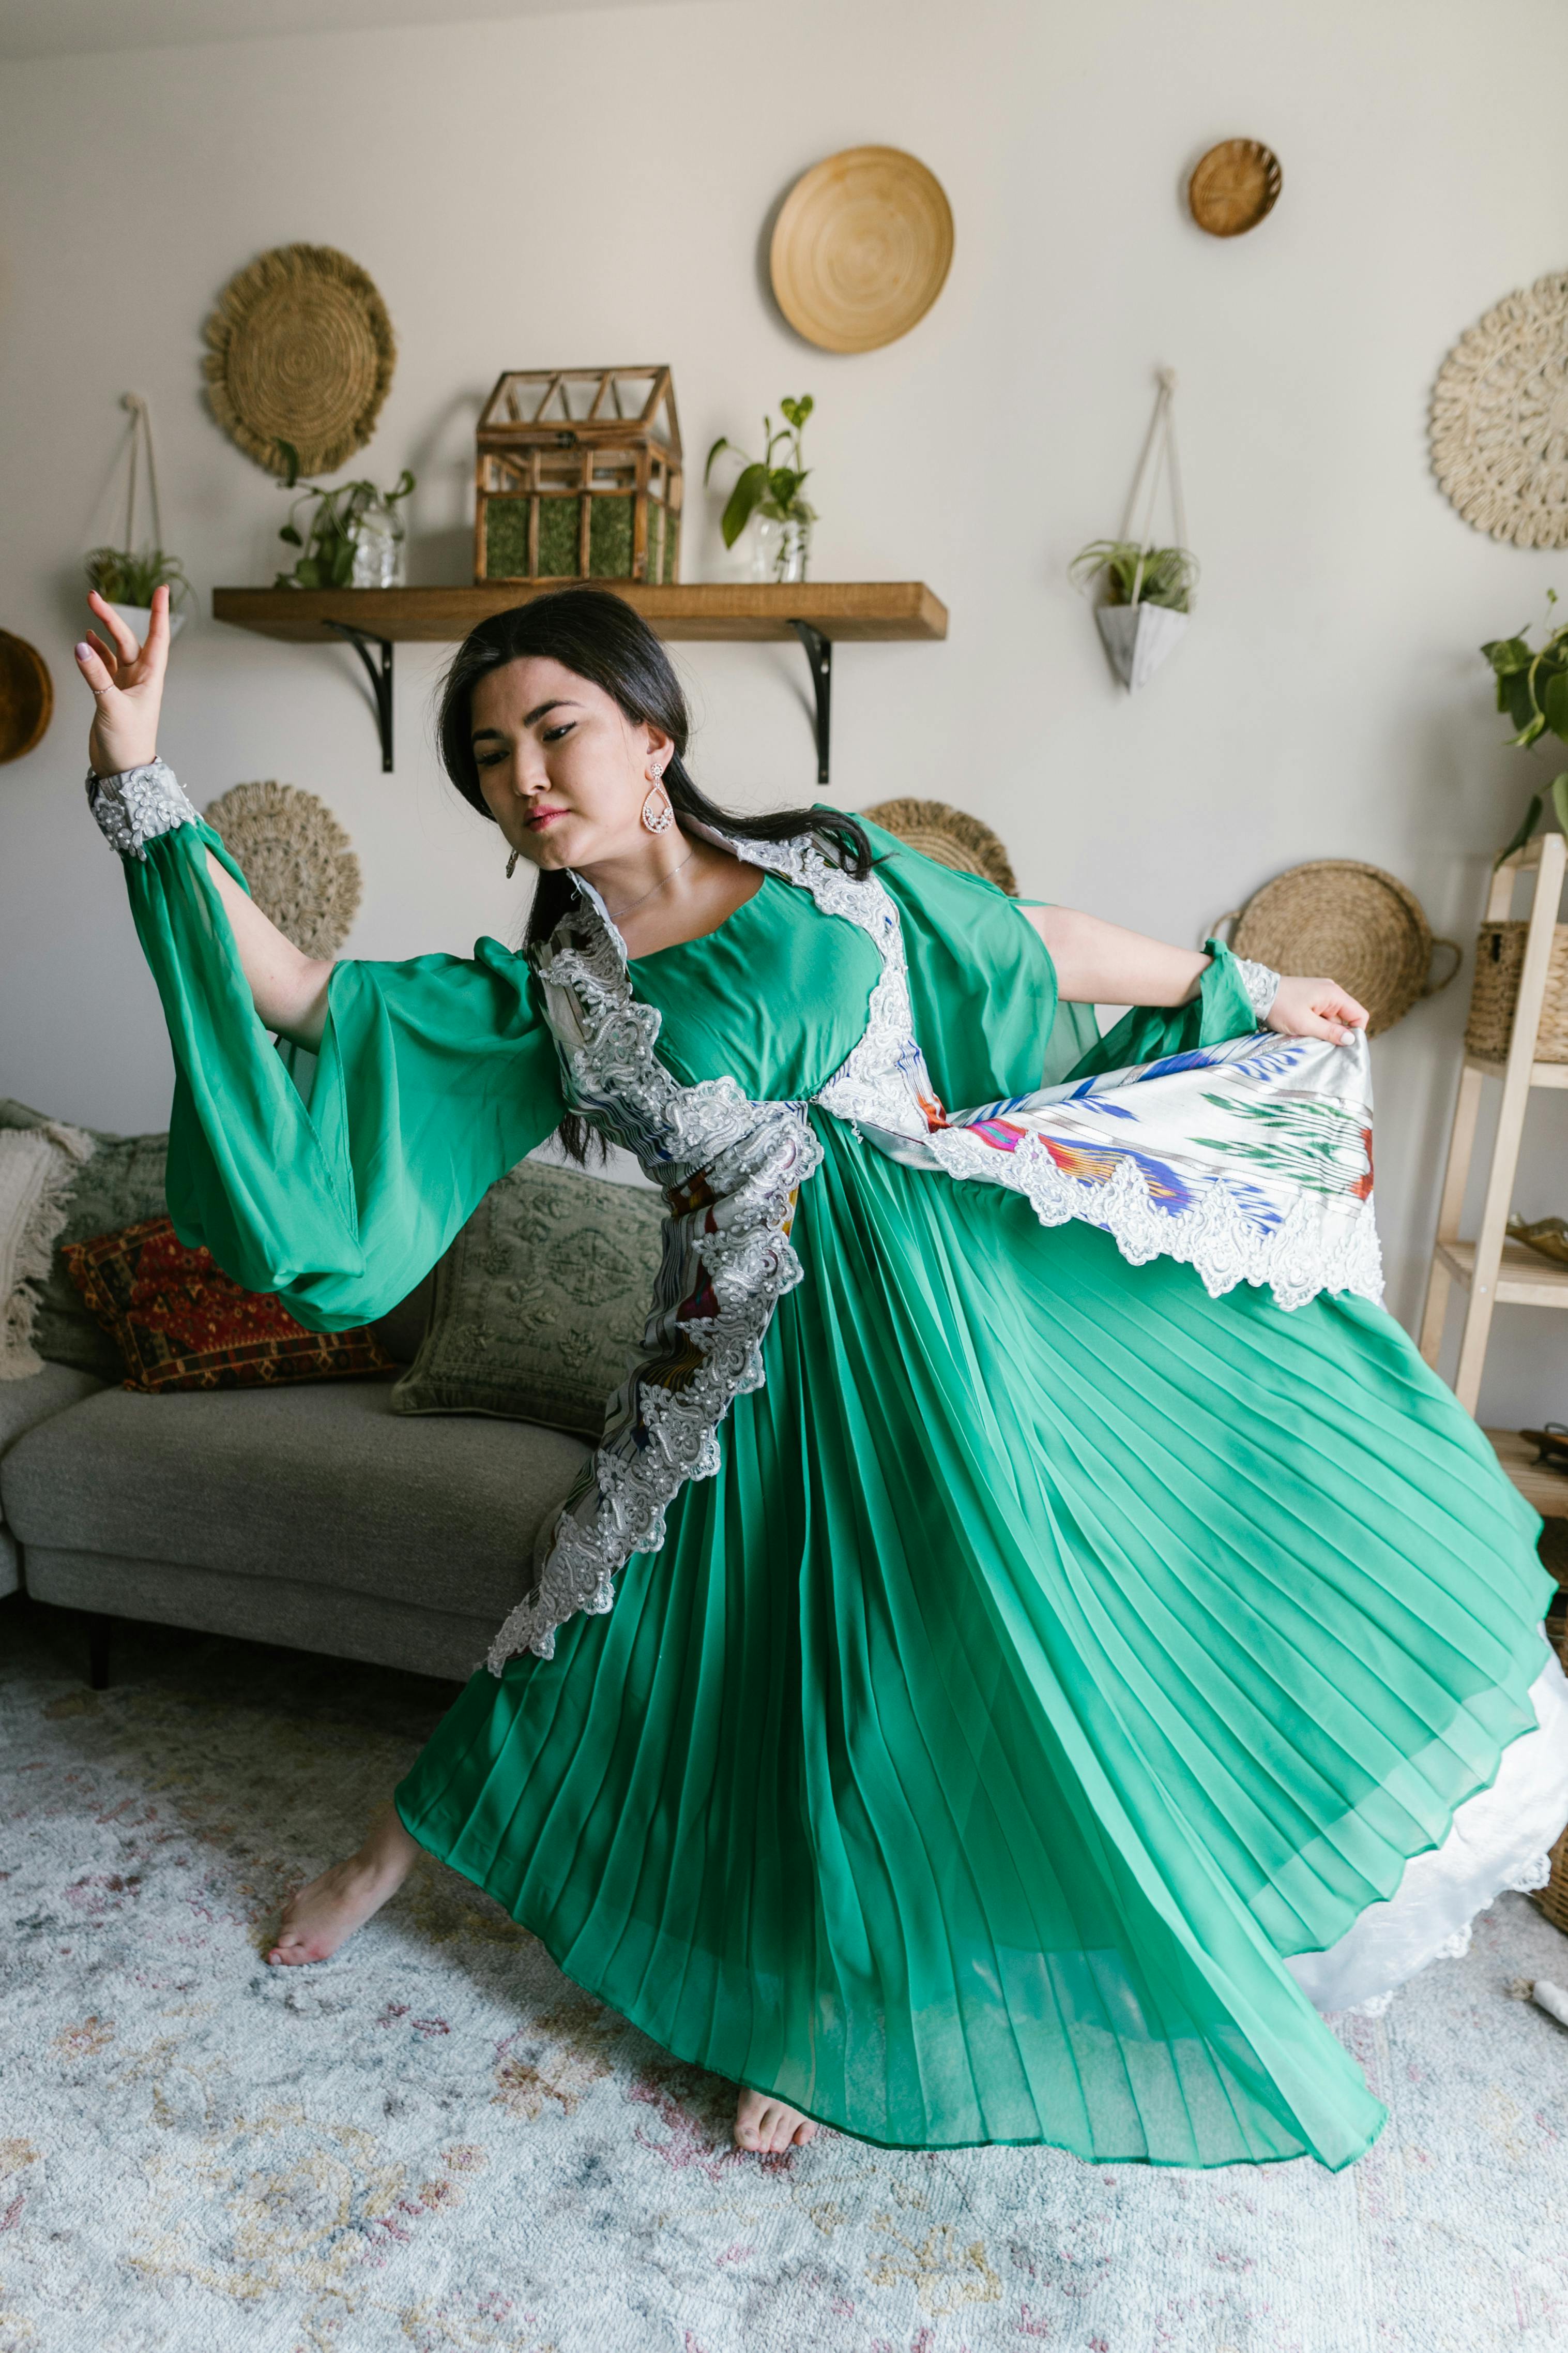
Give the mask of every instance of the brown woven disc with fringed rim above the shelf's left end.
<path id="1" fill-rule="evenodd" d="M 277 245 L 230 278 L 207 320 L 207 402 L 270 473 L 331 473 L 371 438 L 397 341 L 357 261 L 331 245 Z"/>

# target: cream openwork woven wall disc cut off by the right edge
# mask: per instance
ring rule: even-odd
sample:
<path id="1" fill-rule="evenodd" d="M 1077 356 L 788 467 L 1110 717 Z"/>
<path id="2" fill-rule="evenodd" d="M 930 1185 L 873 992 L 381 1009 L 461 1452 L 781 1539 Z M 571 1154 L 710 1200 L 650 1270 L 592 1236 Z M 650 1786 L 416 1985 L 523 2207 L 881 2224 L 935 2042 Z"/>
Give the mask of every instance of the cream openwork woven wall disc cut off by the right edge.
<path id="1" fill-rule="evenodd" d="M 1568 546 L 1568 273 L 1509 294 L 1432 386 L 1432 471 L 1479 532 Z"/>

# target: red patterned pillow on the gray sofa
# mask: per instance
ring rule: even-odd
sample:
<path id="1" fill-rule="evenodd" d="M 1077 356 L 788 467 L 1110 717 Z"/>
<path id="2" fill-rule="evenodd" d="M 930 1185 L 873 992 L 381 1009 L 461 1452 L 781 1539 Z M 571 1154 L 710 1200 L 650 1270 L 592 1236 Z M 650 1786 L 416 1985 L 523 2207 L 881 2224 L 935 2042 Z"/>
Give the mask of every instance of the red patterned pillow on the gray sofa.
<path id="1" fill-rule="evenodd" d="M 367 1329 L 306 1332 L 270 1292 L 242 1292 L 167 1217 L 63 1249 L 71 1280 L 120 1344 L 127 1388 L 259 1388 L 393 1372 Z"/>

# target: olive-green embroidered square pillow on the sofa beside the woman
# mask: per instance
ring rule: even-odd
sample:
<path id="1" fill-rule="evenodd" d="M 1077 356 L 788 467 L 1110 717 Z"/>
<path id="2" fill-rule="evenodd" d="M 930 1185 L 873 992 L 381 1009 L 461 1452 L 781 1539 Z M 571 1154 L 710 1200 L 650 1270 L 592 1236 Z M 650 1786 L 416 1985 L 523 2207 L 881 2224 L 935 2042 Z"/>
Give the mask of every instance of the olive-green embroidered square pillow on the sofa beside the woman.
<path id="1" fill-rule="evenodd" d="M 430 1327 L 393 1412 L 501 1414 L 599 1438 L 642 1346 L 661 1226 L 651 1186 L 520 1162 L 437 1266 Z"/>

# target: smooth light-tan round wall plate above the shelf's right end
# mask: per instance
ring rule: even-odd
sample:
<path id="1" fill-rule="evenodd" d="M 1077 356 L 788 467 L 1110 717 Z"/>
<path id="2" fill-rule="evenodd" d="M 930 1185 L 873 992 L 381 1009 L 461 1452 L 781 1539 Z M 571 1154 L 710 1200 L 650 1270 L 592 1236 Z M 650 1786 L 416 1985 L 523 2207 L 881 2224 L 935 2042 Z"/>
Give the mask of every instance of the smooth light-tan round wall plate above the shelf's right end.
<path id="1" fill-rule="evenodd" d="M 823 351 L 877 351 L 926 315 L 952 261 L 943 184 L 903 148 L 844 148 L 790 188 L 773 296 Z"/>

